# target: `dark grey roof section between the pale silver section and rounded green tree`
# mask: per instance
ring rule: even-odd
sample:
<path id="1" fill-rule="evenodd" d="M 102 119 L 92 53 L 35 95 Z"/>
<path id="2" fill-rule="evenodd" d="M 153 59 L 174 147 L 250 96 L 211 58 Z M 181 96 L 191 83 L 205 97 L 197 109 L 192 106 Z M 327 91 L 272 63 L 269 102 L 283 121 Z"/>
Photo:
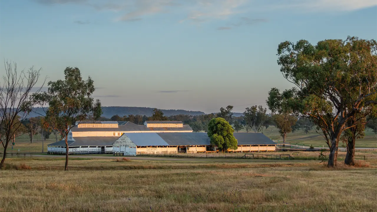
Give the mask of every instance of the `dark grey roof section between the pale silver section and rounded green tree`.
<path id="1" fill-rule="evenodd" d="M 157 133 L 169 146 L 210 145 L 206 132 L 160 132 Z"/>

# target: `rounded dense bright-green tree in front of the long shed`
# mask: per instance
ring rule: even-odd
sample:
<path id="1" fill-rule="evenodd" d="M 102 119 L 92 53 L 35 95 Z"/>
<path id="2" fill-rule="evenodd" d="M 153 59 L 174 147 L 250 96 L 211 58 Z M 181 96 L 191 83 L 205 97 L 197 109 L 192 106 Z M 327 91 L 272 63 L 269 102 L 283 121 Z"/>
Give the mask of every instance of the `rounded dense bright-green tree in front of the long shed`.
<path id="1" fill-rule="evenodd" d="M 221 151 L 237 149 L 237 139 L 233 136 L 234 129 L 224 118 L 213 118 L 208 123 L 208 137 L 211 144 L 217 145 Z"/>

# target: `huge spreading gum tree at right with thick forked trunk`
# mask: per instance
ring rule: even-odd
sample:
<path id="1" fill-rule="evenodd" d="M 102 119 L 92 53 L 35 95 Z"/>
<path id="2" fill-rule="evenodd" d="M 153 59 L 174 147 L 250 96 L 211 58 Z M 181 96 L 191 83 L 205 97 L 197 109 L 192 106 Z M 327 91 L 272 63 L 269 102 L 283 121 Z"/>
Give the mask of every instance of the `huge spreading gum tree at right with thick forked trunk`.
<path id="1" fill-rule="evenodd" d="M 376 41 L 357 37 L 323 40 L 317 45 L 306 40 L 296 44 L 285 41 L 277 55 L 280 71 L 294 88 L 282 93 L 271 89 L 269 107 L 279 111 L 289 108 L 310 118 L 330 149 L 327 166 L 336 166 L 340 136 L 358 122 L 346 126 L 347 121 L 362 111 L 362 116 L 375 112 Z"/>

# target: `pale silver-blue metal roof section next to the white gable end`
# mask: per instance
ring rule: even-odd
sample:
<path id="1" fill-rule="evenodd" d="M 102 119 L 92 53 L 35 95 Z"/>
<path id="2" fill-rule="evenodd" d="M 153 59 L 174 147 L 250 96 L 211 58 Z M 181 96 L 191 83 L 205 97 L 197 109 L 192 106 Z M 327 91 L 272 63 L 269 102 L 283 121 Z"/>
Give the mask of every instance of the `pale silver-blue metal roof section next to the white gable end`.
<path id="1" fill-rule="evenodd" d="M 169 146 L 157 133 L 125 133 L 136 146 Z"/>

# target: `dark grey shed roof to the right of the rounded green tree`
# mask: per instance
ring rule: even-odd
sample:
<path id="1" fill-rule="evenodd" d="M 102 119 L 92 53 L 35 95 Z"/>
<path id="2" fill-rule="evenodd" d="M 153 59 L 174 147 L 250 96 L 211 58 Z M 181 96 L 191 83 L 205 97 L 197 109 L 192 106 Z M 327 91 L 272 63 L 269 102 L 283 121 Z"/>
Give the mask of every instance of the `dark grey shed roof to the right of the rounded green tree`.
<path id="1" fill-rule="evenodd" d="M 262 133 L 234 132 L 238 145 L 275 145 L 276 143 Z"/>

